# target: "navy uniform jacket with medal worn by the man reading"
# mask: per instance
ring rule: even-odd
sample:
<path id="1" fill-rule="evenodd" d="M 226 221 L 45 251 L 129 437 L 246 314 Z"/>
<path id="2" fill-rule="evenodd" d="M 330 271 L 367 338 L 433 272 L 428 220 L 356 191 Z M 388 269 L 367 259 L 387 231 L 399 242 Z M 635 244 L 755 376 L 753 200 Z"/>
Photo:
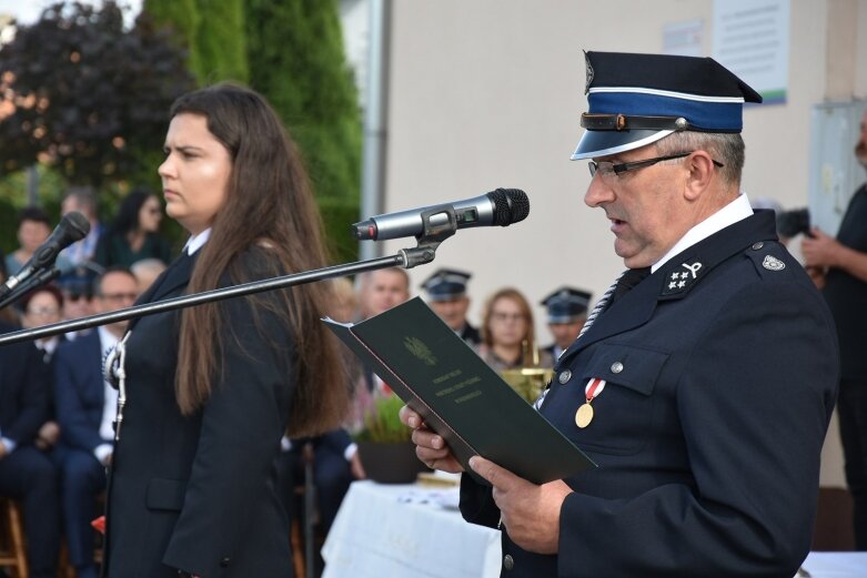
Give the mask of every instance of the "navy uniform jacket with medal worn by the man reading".
<path id="1" fill-rule="evenodd" d="M 566 479 L 558 556 L 503 533 L 503 576 L 794 576 L 838 371 L 827 307 L 773 213 L 687 249 L 557 362 L 541 412 L 599 467 Z M 607 384 L 581 429 L 593 377 Z M 495 525 L 490 490 L 463 478 L 464 517 Z"/>

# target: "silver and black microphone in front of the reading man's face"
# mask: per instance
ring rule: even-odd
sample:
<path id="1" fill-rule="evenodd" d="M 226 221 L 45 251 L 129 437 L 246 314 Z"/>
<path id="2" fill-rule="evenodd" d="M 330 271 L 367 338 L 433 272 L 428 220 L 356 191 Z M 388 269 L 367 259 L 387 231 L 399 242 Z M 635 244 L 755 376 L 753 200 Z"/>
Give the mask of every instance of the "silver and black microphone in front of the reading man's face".
<path id="1" fill-rule="evenodd" d="M 434 214 L 429 215 L 430 225 L 436 226 L 448 222 L 448 209 L 455 212 L 457 229 L 508 226 L 527 217 L 530 200 L 520 189 L 497 189 L 475 199 L 372 216 L 352 225 L 352 232 L 361 241 L 419 236 L 425 225 L 422 213 L 433 211 Z"/>

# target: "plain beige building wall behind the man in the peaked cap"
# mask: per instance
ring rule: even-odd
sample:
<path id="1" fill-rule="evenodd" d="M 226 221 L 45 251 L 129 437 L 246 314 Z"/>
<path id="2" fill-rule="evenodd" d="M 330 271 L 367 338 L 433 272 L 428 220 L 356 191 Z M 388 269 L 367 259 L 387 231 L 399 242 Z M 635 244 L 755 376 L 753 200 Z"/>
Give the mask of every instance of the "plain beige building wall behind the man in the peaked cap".
<path id="1" fill-rule="evenodd" d="M 484 297 L 504 285 L 534 304 L 563 284 L 601 295 L 623 263 L 604 213 L 583 203 L 586 162 L 569 161 L 586 110 L 582 50 L 661 52 L 665 24 L 700 19 L 709 55 L 712 11 L 712 0 L 394 1 L 384 210 L 500 186 L 531 200 L 523 223 L 446 241 L 433 264 L 411 271 L 413 292 L 436 267 L 470 271 L 475 322 Z M 810 107 L 867 97 L 866 31 L 867 0 L 792 0 L 788 99 L 745 112 L 750 196 L 806 205 Z M 534 313 L 546 341 L 543 308 Z M 836 439 L 826 486 L 843 485 Z"/>

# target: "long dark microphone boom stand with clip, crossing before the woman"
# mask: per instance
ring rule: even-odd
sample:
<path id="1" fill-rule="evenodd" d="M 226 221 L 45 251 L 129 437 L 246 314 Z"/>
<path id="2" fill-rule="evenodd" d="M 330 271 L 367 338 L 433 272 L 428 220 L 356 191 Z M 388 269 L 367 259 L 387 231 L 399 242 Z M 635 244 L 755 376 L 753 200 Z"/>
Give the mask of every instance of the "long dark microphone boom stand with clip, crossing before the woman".
<path id="1" fill-rule="evenodd" d="M 431 217 L 435 214 L 442 215 L 443 211 L 445 211 L 448 215 L 447 222 L 438 225 L 432 224 Z M 354 263 L 347 263 L 344 265 L 334 265 L 331 267 L 316 268 L 313 271 L 305 271 L 292 275 L 282 275 L 279 277 L 261 281 L 251 281 L 250 283 L 242 283 L 240 285 L 232 285 L 230 287 L 204 291 L 202 293 L 193 293 L 192 295 L 183 295 L 170 300 L 157 301 L 154 303 L 133 305 L 132 307 L 91 315 L 89 317 L 81 317 L 79 320 L 52 323 L 51 325 L 34 327 L 32 329 L 21 329 L 13 333 L 8 333 L 6 335 L 0 335 L 0 346 L 9 343 L 19 343 L 30 339 L 38 339 L 41 337 L 50 337 L 52 335 L 69 333 L 71 331 L 87 329 L 98 325 L 117 323 L 119 321 L 143 317 L 144 315 L 153 315 L 154 313 L 162 313 L 164 311 L 174 311 L 184 307 L 191 307 L 193 305 L 201 305 L 203 303 L 223 301 L 232 297 L 241 297 L 254 293 L 291 287 L 293 285 L 303 285 L 305 283 L 313 283 L 315 281 L 323 281 L 326 278 L 342 277 L 345 275 L 352 275 L 354 273 L 363 273 L 366 271 L 375 271 L 377 268 L 393 266 L 412 268 L 416 265 L 424 265 L 426 263 L 431 263 L 434 257 L 436 257 L 436 249 L 440 246 L 440 244 L 450 236 L 454 235 L 455 231 L 457 231 L 457 220 L 454 209 L 448 205 L 445 210 L 443 207 L 437 207 L 436 211 L 423 212 L 422 221 L 424 223 L 424 231 L 416 237 L 419 245 L 413 249 L 402 249 L 394 255 L 370 258 L 366 261 L 356 261 Z"/>

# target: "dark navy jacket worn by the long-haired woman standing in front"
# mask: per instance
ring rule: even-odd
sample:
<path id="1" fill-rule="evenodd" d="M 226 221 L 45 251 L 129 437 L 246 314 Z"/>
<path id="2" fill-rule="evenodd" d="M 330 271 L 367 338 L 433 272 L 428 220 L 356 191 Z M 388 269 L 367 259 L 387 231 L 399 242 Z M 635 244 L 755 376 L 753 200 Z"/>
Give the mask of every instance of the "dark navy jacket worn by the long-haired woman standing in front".
<path id="1" fill-rule="evenodd" d="M 264 276 L 264 251 L 239 257 L 252 278 Z M 140 301 L 180 295 L 191 270 L 192 260 L 181 257 Z M 103 576 L 177 578 L 177 569 L 204 578 L 292 576 L 276 458 L 294 346 L 276 316 L 255 313 L 246 298 L 222 302 L 223 378 L 192 416 L 181 415 L 174 396 L 179 312 L 132 326 Z"/>

